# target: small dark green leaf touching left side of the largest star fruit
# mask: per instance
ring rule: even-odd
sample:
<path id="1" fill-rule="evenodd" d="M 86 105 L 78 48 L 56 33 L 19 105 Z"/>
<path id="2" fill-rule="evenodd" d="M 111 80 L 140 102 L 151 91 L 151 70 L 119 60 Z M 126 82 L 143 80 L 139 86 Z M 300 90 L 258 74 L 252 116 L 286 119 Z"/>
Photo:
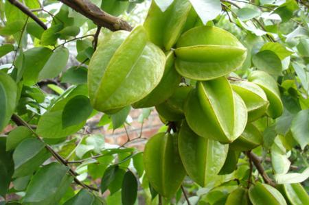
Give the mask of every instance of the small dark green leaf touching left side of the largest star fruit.
<path id="1" fill-rule="evenodd" d="M 87 84 L 87 69 L 85 67 L 71 67 L 63 73 L 61 82 L 69 84 Z"/>

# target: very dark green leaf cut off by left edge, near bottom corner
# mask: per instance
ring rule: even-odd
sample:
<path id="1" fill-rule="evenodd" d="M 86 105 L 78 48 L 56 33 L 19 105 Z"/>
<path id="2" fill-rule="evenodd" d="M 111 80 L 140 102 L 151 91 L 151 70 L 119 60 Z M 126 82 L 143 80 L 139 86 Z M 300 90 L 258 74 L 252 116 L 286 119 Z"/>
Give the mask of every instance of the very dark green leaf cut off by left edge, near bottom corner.
<path id="1" fill-rule="evenodd" d="M 0 195 L 2 197 L 5 197 L 5 194 L 8 193 L 14 172 L 12 152 L 5 151 L 5 141 L 5 137 L 0 137 Z"/>

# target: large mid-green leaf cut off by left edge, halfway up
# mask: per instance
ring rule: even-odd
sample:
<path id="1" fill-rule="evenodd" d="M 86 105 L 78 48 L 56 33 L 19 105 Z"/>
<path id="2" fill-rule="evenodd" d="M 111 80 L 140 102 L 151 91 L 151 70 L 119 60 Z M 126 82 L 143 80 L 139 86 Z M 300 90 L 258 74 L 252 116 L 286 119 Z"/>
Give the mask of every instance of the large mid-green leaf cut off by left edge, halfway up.
<path id="1" fill-rule="evenodd" d="M 0 71 L 0 132 L 8 124 L 15 110 L 17 86 L 12 77 Z"/>

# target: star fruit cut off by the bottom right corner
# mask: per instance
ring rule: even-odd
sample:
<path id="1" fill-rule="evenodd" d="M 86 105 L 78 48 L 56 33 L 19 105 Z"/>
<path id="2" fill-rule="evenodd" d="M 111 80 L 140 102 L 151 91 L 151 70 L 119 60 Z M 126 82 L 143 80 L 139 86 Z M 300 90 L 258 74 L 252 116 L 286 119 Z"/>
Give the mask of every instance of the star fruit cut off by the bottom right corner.
<path id="1" fill-rule="evenodd" d="M 301 184 L 279 184 L 277 189 L 291 205 L 309 204 L 309 195 Z"/>

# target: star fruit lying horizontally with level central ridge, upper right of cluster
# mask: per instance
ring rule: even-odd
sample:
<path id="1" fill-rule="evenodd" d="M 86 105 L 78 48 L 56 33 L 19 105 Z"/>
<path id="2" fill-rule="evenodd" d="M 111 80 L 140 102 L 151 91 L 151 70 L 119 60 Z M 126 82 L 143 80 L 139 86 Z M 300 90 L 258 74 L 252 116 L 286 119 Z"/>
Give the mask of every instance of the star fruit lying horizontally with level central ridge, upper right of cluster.
<path id="1" fill-rule="evenodd" d="M 247 49 L 229 32 L 218 27 L 194 27 L 177 41 L 176 70 L 194 80 L 227 75 L 242 65 Z"/>

